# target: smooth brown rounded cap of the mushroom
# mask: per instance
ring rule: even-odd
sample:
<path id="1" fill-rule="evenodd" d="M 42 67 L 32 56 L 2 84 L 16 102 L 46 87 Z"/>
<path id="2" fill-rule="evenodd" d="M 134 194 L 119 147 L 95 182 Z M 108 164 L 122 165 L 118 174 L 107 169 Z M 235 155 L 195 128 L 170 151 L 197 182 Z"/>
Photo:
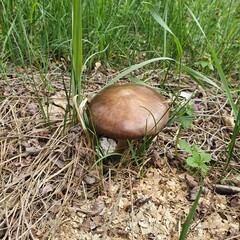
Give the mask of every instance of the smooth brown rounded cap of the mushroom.
<path id="1" fill-rule="evenodd" d="M 138 139 L 162 129 L 169 118 L 163 96 L 141 84 L 112 85 L 89 103 L 95 131 L 112 139 Z"/>

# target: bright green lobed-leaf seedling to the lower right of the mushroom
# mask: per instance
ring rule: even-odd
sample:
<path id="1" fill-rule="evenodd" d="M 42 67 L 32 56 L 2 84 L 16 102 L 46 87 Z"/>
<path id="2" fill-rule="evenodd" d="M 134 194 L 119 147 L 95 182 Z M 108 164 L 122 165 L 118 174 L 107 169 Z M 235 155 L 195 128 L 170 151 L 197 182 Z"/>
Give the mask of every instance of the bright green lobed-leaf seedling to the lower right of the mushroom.
<path id="1" fill-rule="evenodd" d="M 211 161 L 211 155 L 204 152 L 196 144 L 191 146 L 189 143 L 183 140 L 179 140 L 178 144 L 181 149 L 192 155 L 186 160 L 187 166 L 195 168 L 197 172 L 200 172 L 202 176 L 205 176 L 207 174 L 206 163 Z"/>

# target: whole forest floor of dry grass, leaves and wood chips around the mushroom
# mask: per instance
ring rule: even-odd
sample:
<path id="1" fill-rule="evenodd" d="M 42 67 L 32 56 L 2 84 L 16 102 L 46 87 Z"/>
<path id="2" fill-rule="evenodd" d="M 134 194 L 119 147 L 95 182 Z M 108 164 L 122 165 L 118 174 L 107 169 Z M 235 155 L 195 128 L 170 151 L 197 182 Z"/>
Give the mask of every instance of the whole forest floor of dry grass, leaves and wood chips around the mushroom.
<path id="1" fill-rule="evenodd" d="M 85 93 L 116 74 L 95 69 Z M 156 87 L 162 81 L 157 71 L 135 75 Z M 0 239 L 178 239 L 199 190 L 198 177 L 186 168 L 188 155 L 175 151 L 180 123 L 157 136 L 141 171 L 130 152 L 117 165 L 95 164 L 81 126 L 64 121 L 63 80 L 69 83 L 70 74 L 30 75 L 21 68 L 0 76 Z M 217 89 L 206 91 L 185 75 L 180 86 L 171 75 L 166 85 L 170 99 L 180 87 L 178 103 L 194 93 L 193 127 L 180 138 L 212 157 L 187 239 L 240 239 L 240 136 L 222 171 L 234 126 L 231 107 Z M 47 109 L 49 125 L 42 114 Z"/>

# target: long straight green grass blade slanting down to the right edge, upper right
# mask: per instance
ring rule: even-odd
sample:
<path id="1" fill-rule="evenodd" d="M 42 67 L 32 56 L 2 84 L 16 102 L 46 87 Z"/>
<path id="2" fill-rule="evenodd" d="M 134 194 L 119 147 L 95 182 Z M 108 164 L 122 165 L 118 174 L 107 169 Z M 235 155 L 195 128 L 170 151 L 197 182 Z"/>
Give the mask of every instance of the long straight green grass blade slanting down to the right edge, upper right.
<path id="1" fill-rule="evenodd" d="M 218 70 L 218 74 L 219 74 L 220 80 L 221 80 L 221 82 L 222 82 L 223 89 L 225 90 L 225 93 L 226 93 L 226 96 L 227 96 L 227 98 L 228 98 L 228 101 L 229 101 L 229 103 L 231 104 L 231 107 L 232 107 L 232 109 L 233 109 L 235 118 L 237 118 L 237 106 L 236 106 L 236 104 L 235 104 L 234 101 L 233 101 L 233 98 L 232 98 L 232 95 L 231 95 L 231 91 L 230 91 L 229 86 L 228 86 L 227 79 L 226 79 L 225 74 L 224 74 L 224 72 L 223 72 L 223 69 L 222 69 L 222 66 L 221 66 L 221 64 L 220 64 L 220 61 L 219 61 L 219 59 L 218 59 L 218 57 L 217 57 L 217 54 L 216 54 L 216 52 L 214 51 L 211 43 L 209 42 L 209 40 L 208 40 L 205 32 L 203 31 L 203 29 L 202 29 L 199 21 L 197 20 L 197 18 L 196 18 L 195 15 L 193 14 L 193 12 L 192 12 L 188 7 L 187 7 L 187 9 L 188 9 L 189 13 L 191 14 L 192 18 L 194 19 L 194 21 L 196 22 L 197 26 L 199 27 L 200 31 L 202 32 L 204 38 L 205 38 L 206 41 L 207 41 L 208 48 L 209 48 L 209 50 L 210 50 L 210 52 L 211 52 L 211 54 L 212 54 L 213 60 L 214 60 L 214 62 L 215 62 L 216 68 L 217 68 L 217 70 Z"/>

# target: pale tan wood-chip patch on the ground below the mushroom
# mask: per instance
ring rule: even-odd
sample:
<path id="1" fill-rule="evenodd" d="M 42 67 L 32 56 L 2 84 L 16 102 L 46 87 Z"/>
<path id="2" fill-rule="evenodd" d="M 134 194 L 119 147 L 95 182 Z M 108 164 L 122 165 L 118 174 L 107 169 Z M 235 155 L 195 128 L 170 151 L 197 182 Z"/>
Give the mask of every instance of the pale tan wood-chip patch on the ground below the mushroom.
<path id="1" fill-rule="evenodd" d="M 55 239 L 178 239 L 192 205 L 189 187 L 186 174 L 162 167 L 148 169 L 144 179 L 108 186 L 107 195 L 76 202 Z M 226 196 L 209 192 L 201 198 L 188 239 L 236 236 L 238 218 Z"/>

